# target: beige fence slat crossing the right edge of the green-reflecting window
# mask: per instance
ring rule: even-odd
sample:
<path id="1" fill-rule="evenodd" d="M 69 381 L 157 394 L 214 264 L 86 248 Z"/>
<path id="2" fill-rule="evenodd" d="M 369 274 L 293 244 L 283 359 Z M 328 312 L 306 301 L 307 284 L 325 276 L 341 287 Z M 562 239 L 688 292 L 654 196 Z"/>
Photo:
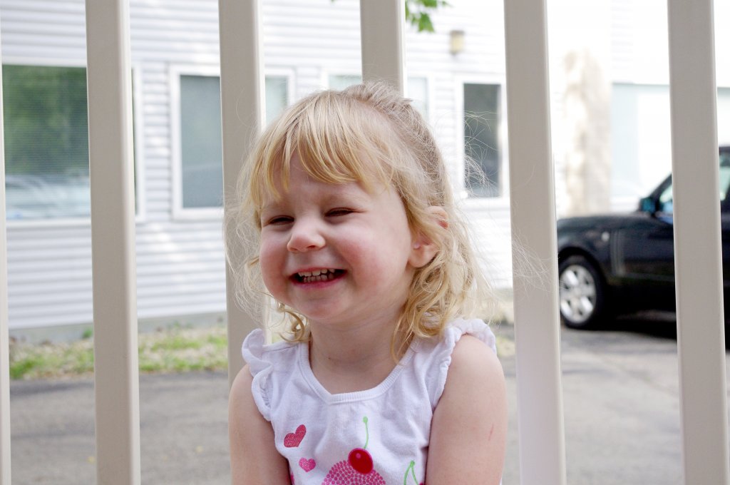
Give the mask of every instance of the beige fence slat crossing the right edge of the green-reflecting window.
<path id="1" fill-rule="evenodd" d="M 128 0 L 86 1 L 96 478 L 139 484 Z"/>

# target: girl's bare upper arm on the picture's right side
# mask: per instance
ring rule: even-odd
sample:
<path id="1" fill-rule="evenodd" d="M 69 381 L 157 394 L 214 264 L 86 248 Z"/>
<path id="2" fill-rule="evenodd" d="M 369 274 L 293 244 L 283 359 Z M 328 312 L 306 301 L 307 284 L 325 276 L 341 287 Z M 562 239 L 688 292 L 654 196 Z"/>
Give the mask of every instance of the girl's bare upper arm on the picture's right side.
<path id="1" fill-rule="evenodd" d="M 499 484 L 507 439 L 505 394 L 494 352 L 475 337 L 461 337 L 431 421 L 426 483 Z"/>

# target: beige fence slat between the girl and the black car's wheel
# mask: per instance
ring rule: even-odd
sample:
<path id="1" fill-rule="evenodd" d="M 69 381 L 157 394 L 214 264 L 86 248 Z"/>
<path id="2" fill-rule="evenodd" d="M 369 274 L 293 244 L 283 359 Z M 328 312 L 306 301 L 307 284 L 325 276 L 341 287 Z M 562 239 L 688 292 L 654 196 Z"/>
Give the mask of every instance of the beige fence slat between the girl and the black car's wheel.
<path id="1" fill-rule="evenodd" d="M 504 31 L 520 480 L 565 484 L 545 1 L 505 0 Z"/>

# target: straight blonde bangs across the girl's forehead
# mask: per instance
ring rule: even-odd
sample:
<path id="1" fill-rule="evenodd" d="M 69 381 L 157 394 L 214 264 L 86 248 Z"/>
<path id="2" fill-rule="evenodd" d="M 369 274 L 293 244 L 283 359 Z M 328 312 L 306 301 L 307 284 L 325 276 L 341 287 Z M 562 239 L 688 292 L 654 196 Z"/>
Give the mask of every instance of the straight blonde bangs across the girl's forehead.
<path id="1" fill-rule="evenodd" d="M 339 98 L 339 99 L 338 99 Z M 249 188 L 255 210 L 264 195 L 277 199 L 289 190 L 291 161 L 297 156 L 307 175 L 323 183 L 391 183 L 391 145 L 382 115 L 341 93 L 310 96 L 299 109 L 275 121 L 253 153 Z"/>

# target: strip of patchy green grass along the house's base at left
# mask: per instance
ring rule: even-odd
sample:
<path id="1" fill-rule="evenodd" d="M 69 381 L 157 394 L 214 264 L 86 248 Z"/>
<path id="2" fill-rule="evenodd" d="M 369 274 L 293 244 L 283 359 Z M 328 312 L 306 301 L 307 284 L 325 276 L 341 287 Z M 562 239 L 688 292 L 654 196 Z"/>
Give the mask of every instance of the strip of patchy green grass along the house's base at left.
<path id="1" fill-rule="evenodd" d="M 93 373 L 91 329 L 72 343 L 10 343 L 12 379 L 60 378 Z M 139 335 L 139 371 L 177 373 L 225 370 L 228 339 L 225 326 L 206 329 L 174 327 Z"/>

